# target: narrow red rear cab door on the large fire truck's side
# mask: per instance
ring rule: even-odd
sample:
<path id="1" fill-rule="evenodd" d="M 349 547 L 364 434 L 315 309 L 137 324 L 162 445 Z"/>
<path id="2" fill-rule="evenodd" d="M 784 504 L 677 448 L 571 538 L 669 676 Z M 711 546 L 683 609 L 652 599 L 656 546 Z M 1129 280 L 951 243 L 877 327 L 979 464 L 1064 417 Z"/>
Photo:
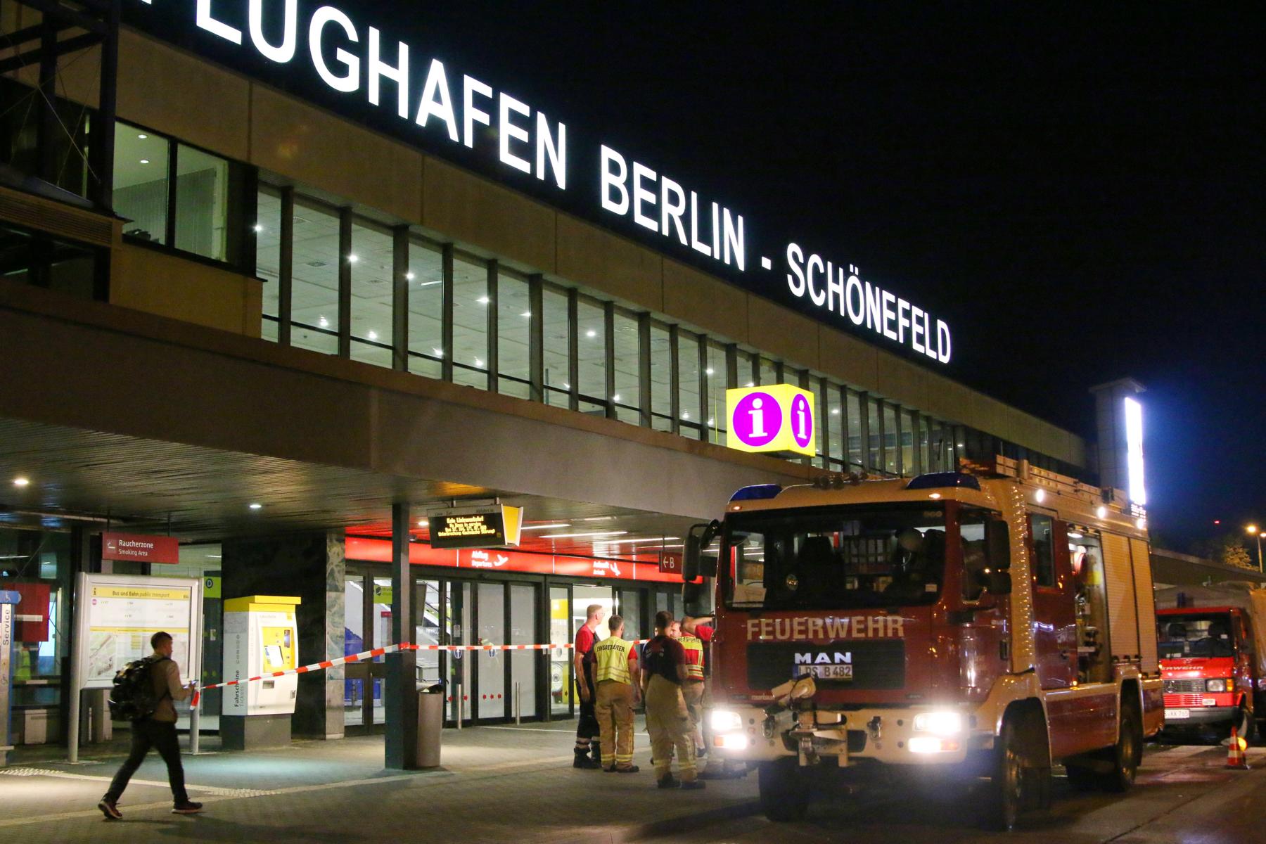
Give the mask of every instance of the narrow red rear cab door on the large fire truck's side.
<path id="1" fill-rule="evenodd" d="M 1042 688 L 1067 688 L 1077 676 L 1077 625 L 1067 528 L 1053 516 L 1028 516 L 1037 676 Z"/>

